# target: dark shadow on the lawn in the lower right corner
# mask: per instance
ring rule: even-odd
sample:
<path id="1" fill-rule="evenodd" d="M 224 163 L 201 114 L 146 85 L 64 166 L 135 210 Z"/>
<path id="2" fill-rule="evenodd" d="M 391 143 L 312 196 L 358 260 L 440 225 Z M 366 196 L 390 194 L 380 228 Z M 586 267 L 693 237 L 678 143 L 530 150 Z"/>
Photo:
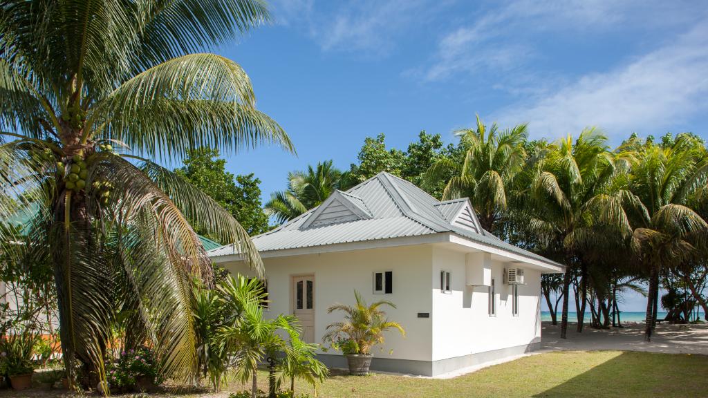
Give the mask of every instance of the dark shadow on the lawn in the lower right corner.
<path id="1" fill-rule="evenodd" d="M 706 397 L 707 375 L 708 356 L 624 352 L 533 397 Z"/>

